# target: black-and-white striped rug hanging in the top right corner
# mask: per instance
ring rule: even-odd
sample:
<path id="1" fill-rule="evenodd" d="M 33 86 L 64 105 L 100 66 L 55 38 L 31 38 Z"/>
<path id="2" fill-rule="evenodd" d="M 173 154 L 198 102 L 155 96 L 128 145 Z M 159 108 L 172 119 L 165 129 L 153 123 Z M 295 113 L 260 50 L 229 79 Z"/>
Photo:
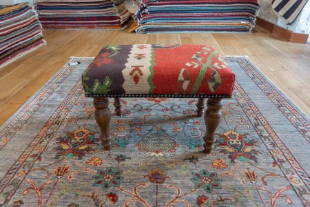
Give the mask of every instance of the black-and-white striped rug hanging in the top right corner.
<path id="1" fill-rule="evenodd" d="M 304 8 L 308 0 L 273 0 L 272 8 L 287 23 L 292 23 Z"/>

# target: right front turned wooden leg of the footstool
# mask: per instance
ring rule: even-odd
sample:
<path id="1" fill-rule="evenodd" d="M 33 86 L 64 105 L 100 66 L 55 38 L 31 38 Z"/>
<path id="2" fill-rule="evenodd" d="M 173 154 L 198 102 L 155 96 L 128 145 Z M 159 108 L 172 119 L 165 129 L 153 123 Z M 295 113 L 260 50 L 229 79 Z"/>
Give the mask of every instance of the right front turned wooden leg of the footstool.
<path id="1" fill-rule="evenodd" d="M 222 108 L 222 99 L 208 99 L 207 109 L 205 110 L 205 153 L 209 154 L 214 144 L 214 133 L 218 124 L 220 124 L 220 109 Z"/>

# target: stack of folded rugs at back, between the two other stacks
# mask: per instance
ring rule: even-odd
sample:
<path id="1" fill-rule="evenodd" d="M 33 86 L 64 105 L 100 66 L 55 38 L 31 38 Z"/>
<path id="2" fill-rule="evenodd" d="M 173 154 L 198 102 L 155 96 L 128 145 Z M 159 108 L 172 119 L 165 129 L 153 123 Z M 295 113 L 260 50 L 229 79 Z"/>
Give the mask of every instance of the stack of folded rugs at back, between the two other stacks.
<path id="1" fill-rule="evenodd" d="M 123 0 L 37 0 L 43 28 L 120 30 L 130 18 Z"/>

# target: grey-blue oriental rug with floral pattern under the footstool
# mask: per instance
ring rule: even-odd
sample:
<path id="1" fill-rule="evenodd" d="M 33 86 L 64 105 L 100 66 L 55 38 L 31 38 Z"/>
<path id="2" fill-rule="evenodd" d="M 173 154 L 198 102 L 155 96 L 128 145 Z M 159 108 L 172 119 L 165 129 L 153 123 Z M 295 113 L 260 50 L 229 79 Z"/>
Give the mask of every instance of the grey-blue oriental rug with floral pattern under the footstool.
<path id="1" fill-rule="evenodd" d="M 0 129 L 0 206 L 309 206 L 309 118 L 247 57 L 211 155 L 196 99 L 127 98 L 104 151 L 70 59 Z M 110 106 L 113 106 L 110 99 Z"/>

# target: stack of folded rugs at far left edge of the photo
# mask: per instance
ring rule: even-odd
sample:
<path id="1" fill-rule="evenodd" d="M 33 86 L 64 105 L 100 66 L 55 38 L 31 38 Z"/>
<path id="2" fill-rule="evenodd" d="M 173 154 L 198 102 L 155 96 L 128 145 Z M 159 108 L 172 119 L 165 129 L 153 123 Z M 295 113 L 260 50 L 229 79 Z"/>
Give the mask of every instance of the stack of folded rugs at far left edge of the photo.
<path id="1" fill-rule="evenodd" d="M 43 45 L 42 27 L 28 3 L 0 6 L 0 68 Z"/>

